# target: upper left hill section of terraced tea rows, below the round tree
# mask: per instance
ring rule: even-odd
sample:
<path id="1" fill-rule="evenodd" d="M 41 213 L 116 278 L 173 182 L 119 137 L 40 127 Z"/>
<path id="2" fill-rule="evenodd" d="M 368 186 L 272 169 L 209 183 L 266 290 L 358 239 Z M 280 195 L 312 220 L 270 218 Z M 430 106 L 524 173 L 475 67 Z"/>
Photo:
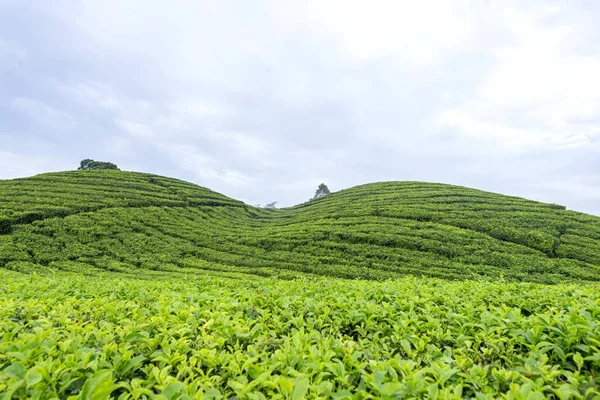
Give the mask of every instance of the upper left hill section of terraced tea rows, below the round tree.
<path id="1" fill-rule="evenodd" d="M 0 181 L 0 234 L 15 225 L 112 207 L 243 206 L 212 190 L 151 174 L 69 171 Z"/>

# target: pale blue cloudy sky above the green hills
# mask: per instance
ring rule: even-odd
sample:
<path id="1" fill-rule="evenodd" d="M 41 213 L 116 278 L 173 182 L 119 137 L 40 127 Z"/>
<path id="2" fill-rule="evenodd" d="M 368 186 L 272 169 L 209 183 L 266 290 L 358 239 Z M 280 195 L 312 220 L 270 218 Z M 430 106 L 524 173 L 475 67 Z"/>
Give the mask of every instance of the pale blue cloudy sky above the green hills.
<path id="1" fill-rule="evenodd" d="M 0 179 L 92 158 L 291 206 L 429 181 L 600 215 L 600 4 L 0 0 Z"/>

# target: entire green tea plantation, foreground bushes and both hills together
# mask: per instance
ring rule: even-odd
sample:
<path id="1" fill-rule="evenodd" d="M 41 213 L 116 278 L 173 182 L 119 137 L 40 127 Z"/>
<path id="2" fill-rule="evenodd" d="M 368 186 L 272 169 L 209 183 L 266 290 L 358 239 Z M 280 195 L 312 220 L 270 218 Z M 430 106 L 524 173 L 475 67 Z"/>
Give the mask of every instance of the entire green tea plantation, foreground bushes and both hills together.
<path id="1" fill-rule="evenodd" d="M 419 182 L 259 209 L 0 181 L 0 398 L 600 399 L 600 218 Z"/>

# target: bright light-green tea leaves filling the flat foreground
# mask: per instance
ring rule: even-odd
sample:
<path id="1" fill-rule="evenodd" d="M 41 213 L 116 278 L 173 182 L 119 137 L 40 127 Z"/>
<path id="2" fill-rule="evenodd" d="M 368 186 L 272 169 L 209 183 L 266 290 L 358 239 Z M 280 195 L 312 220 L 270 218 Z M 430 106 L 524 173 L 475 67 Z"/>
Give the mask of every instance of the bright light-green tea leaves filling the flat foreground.
<path id="1" fill-rule="evenodd" d="M 0 270 L 0 396 L 600 396 L 598 285 Z"/>

